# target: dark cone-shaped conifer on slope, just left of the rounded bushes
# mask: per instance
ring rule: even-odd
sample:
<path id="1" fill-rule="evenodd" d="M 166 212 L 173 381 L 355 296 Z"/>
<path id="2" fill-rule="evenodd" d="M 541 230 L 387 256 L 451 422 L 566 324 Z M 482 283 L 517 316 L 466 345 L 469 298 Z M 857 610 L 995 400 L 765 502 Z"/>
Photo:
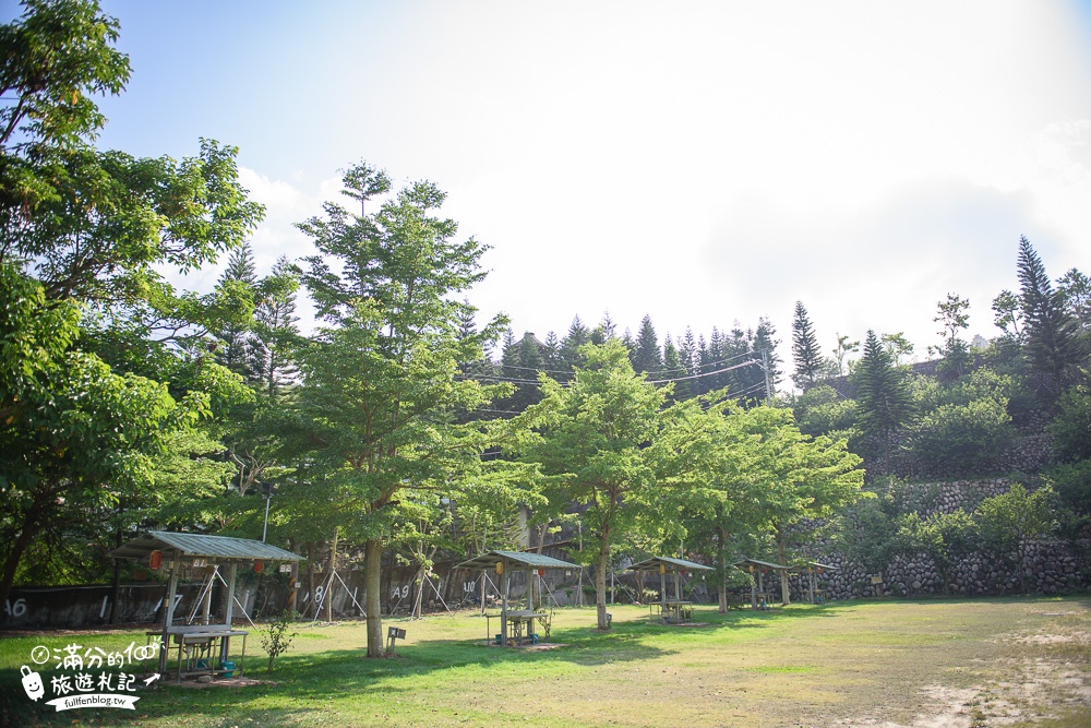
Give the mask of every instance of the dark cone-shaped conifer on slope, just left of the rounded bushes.
<path id="1" fill-rule="evenodd" d="M 897 432 L 912 419 L 913 401 L 904 375 L 894 366 L 874 331 L 864 339 L 864 354 L 855 371 L 856 411 L 861 430 L 883 443 L 886 468 Z"/>

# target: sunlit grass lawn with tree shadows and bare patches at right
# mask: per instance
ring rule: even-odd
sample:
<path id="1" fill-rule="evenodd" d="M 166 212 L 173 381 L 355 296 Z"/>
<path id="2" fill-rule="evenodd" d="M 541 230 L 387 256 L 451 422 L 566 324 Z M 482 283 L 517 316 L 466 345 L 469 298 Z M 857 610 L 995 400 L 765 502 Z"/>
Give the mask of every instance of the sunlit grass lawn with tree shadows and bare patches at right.
<path id="1" fill-rule="evenodd" d="M 134 712 L 60 713 L 32 703 L 20 667 L 38 645 L 119 649 L 143 631 L 0 637 L 0 724 L 250 726 L 1091 726 L 1091 598 L 854 601 L 768 612 L 698 607 L 702 628 L 649 624 L 616 606 L 563 609 L 553 642 L 485 647 L 472 612 L 388 620 L 407 632 L 396 658 L 362 657 L 362 623 L 304 623 L 265 675 L 251 633 L 245 688 L 137 691 Z M 493 622 L 495 628 L 495 622 Z M 384 630 L 385 632 L 385 630 Z M 96 670 L 101 671 L 101 670 Z M 70 671 L 71 672 L 71 671 Z M 4 723 L 7 721 L 7 723 Z"/>

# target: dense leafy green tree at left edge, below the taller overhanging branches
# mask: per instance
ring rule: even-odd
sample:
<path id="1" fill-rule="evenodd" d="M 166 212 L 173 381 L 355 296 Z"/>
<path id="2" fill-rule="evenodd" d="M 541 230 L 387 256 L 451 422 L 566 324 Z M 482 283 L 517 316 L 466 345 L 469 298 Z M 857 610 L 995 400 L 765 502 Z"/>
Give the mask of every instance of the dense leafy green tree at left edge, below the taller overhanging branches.
<path id="1" fill-rule="evenodd" d="M 73 348 L 79 332 L 74 303 L 0 264 L 0 599 L 43 529 L 143 488 L 167 434 L 207 405 L 113 373 Z"/>

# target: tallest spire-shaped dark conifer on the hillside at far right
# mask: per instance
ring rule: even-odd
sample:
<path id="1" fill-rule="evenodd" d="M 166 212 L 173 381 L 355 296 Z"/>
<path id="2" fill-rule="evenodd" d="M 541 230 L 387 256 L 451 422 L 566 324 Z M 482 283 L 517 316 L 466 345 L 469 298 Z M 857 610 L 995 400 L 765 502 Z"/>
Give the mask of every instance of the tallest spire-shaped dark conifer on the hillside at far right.
<path id="1" fill-rule="evenodd" d="M 1046 385 L 1056 390 L 1069 380 L 1072 367 L 1080 359 L 1076 322 L 1026 237 L 1019 238 L 1018 273 L 1028 358 L 1045 375 Z"/>

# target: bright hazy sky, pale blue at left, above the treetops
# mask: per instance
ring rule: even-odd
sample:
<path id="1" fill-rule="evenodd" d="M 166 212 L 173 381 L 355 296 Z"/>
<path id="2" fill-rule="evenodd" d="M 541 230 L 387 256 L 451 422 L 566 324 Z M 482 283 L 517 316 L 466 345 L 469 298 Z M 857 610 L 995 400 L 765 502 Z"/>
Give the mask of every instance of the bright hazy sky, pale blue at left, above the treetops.
<path id="1" fill-rule="evenodd" d="M 133 79 L 101 144 L 238 145 L 263 267 L 368 159 L 449 193 L 517 333 L 768 317 L 788 359 L 800 299 L 825 349 L 923 357 L 948 291 L 997 333 L 1020 235 L 1091 271 L 1088 3 L 103 4 Z"/>

